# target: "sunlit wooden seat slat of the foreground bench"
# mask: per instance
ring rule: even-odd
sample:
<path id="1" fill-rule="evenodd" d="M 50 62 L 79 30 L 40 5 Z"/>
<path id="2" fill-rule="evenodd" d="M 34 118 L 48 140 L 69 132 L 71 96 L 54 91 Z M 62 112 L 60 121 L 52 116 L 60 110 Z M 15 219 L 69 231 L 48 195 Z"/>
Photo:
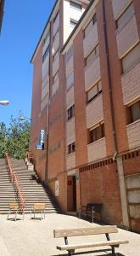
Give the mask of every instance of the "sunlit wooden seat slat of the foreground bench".
<path id="1" fill-rule="evenodd" d="M 63 251 L 63 250 L 81 249 L 81 248 L 88 248 L 88 247 L 117 246 L 117 245 L 126 244 L 126 243 L 129 243 L 129 241 L 121 241 L 121 240 L 98 241 L 98 242 L 85 243 L 85 244 L 57 246 L 57 249 Z"/>

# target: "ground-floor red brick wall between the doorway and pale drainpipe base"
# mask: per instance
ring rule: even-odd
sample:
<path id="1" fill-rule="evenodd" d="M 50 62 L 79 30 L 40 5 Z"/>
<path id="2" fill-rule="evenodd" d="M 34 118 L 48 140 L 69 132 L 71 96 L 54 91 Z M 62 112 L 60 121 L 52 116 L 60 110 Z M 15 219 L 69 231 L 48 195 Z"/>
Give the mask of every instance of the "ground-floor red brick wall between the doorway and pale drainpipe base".
<path id="1" fill-rule="evenodd" d="M 103 219 L 109 224 L 120 224 L 120 190 L 116 164 L 81 172 L 81 205 L 103 203 Z"/>

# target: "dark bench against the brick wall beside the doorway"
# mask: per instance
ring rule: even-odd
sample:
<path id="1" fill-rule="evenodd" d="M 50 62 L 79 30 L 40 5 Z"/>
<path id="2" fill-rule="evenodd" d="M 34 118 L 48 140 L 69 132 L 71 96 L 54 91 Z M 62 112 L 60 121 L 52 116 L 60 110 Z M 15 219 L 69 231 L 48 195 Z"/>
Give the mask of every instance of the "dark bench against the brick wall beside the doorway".
<path id="1" fill-rule="evenodd" d="M 103 204 L 101 203 L 88 203 L 87 206 L 81 206 L 79 210 L 79 218 L 85 216 L 87 219 L 92 219 L 93 222 L 95 213 L 96 218 L 99 216 L 99 220 L 102 220 L 102 207 Z"/>

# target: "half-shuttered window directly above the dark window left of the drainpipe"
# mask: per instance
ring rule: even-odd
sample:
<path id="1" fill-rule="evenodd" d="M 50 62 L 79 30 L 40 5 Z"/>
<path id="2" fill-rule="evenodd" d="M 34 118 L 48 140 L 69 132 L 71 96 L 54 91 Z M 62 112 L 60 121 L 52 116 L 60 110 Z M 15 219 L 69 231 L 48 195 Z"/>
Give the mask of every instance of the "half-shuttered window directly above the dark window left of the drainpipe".
<path id="1" fill-rule="evenodd" d="M 90 90 L 87 91 L 87 102 L 91 102 L 101 92 L 102 92 L 102 82 L 100 80 Z"/>

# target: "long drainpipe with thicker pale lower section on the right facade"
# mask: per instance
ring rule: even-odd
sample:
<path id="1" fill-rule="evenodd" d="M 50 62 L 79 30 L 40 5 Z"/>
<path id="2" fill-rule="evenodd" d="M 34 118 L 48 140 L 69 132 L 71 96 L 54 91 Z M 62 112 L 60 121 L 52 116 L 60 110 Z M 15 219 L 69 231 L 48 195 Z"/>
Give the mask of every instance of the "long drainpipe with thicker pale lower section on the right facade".
<path id="1" fill-rule="evenodd" d="M 114 104 L 113 104 L 111 71 L 110 71 L 110 65 L 109 65 L 109 44 L 108 44 L 108 35 L 107 35 L 107 27 L 106 27 L 105 0 L 102 0 L 102 3 L 103 3 L 102 6 L 103 6 L 103 19 L 104 19 L 104 43 L 105 43 L 105 53 L 106 53 L 108 83 L 109 83 L 109 105 L 110 105 L 109 107 L 111 110 L 113 141 L 114 141 L 114 148 L 115 148 L 113 160 L 116 160 L 118 176 L 119 176 L 122 224 L 126 227 L 130 227 L 128 206 L 127 206 L 127 196 L 126 196 L 126 182 L 125 182 L 125 177 L 124 177 L 122 157 L 117 155 L 118 154 L 118 145 L 117 145 L 116 131 L 115 131 L 115 110 L 114 110 Z"/>

